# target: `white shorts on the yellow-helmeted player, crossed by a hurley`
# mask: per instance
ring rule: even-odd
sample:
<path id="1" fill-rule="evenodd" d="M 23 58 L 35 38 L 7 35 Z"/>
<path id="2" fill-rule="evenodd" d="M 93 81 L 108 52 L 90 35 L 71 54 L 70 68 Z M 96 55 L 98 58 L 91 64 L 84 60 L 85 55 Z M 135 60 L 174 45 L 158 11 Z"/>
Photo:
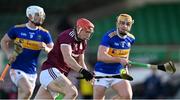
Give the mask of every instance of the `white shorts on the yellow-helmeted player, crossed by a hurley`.
<path id="1" fill-rule="evenodd" d="M 95 72 L 96 76 L 112 76 L 112 75 L 117 75 L 117 74 L 105 74 L 101 72 Z M 122 81 L 122 79 L 117 79 L 117 78 L 100 78 L 100 79 L 95 79 L 94 85 L 101 85 L 106 88 L 109 88 L 110 86 L 113 86 L 114 84 Z"/>

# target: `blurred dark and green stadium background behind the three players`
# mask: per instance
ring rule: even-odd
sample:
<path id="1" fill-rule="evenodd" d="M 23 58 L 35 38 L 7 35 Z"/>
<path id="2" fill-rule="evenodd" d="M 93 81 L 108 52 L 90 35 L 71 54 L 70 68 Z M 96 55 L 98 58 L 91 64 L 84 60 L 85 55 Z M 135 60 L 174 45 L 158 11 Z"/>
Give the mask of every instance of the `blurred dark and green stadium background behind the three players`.
<path id="1" fill-rule="evenodd" d="M 85 56 L 91 70 L 103 34 L 115 27 L 120 13 L 130 14 L 135 20 L 131 33 L 136 37 L 130 60 L 152 64 L 172 60 L 177 68 L 173 75 L 135 66 L 129 68 L 134 77 L 131 82 L 133 98 L 180 99 L 180 0 L 0 0 L 0 38 L 13 25 L 27 22 L 25 11 L 29 5 L 44 8 L 46 20 L 43 26 L 51 32 L 54 42 L 60 32 L 74 26 L 77 18 L 85 17 L 95 24 L 95 33 Z M 46 55 L 42 53 L 39 66 L 45 59 Z M 0 72 L 6 63 L 7 58 L 0 49 Z M 72 72 L 70 78 L 78 87 L 78 98 L 91 99 L 92 87 L 84 80 L 73 78 L 75 76 L 77 73 Z M 34 94 L 39 86 L 37 81 Z M 5 81 L 0 82 L 0 99 L 17 98 L 16 92 L 7 75 Z M 108 89 L 106 98 L 111 98 L 114 93 Z"/>

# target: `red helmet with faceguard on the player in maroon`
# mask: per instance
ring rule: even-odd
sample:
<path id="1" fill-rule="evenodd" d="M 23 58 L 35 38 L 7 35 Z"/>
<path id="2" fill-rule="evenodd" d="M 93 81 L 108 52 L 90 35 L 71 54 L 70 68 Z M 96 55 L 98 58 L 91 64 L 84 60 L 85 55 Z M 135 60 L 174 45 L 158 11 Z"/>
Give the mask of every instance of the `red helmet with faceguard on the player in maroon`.
<path id="1" fill-rule="evenodd" d="M 80 32 L 82 30 L 85 31 L 89 31 L 92 32 L 94 30 L 94 25 L 92 22 L 90 22 L 89 20 L 85 19 L 85 18 L 80 18 L 76 21 L 76 39 L 82 41 L 82 39 L 80 39 L 78 37 L 78 35 L 80 34 Z M 91 35 L 92 36 L 92 35 Z"/>

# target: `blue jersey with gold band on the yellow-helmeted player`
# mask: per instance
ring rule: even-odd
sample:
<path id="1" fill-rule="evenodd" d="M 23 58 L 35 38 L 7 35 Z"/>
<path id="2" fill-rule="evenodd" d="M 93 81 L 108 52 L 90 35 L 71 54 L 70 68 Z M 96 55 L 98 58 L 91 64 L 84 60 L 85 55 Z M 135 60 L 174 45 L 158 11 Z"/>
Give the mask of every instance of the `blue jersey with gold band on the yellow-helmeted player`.
<path id="1" fill-rule="evenodd" d="M 113 57 L 129 58 L 131 45 L 135 37 L 128 33 L 124 37 L 119 37 L 115 29 L 108 31 L 102 38 L 100 45 L 109 48 L 108 54 Z M 120 63 L 105 63 L 98 61 L 95 65 L 95 71 L 106 74 L 118 74 L 123 66 Z"/>

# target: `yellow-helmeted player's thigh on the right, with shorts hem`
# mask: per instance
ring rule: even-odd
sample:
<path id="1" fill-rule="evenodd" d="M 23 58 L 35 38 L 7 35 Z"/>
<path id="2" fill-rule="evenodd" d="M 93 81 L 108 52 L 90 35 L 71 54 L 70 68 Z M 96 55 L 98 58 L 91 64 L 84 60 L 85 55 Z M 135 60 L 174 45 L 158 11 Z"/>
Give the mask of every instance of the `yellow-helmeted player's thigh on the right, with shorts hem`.
<path id="1" fill-rule="evenodd" d="M 116 79 L 112 84 L 112 89 L 118 94 L 112 97 L 112 99 L 132 99 L 133 93 L 129 81 Z"/>

